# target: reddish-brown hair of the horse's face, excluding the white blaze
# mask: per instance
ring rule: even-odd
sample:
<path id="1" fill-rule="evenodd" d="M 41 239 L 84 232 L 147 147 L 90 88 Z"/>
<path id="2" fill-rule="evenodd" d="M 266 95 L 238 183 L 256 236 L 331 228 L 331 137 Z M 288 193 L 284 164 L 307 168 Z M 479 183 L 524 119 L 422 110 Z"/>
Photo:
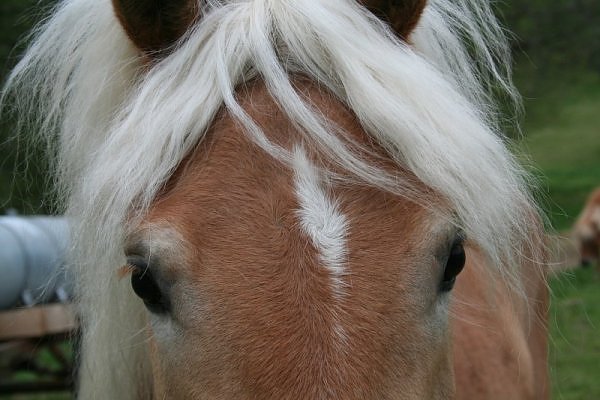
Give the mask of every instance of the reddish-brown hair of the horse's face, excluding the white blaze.
<path id="1" fill-rule="evenodd" d="M 331 98 L 314 86 L 308 91 L 313 102 L 358 134 L 357 122 L 341 104 L 330 106 Z M 299 140 L 287 119 L 273 111 L 276 107 L 262 85 L 244 103 L 271 140 L 287 147 Z M 340 302 L 299 229 L 292 172 L 249 143 L 231 117 L 217 120 L 207 142 L 174 179 L 148 222 L 168 221 L 194 249 L 193 260 L 181 266 L 181 273 L 198 293 L 190 298 L 197 297 L 197 307 L 202 304 L 202 309 L 185 313 L 186 324 L 202 329 L 189 338 L 194 344 L 187 348 L 199 349 L 202 357 L 182 355 L 176 361 L 194 365 L 193 378 L 170 376 L 169 371 L 180 369 L 165 368 L 171 382 L 168 393 L 189 397 L 196 390 L 190 387 L 193 383 L 206 390 L 200 398 L 397 398 L 394 392 L 410 398 L 445 397 L 436 393 L 439 385 L 425 385 L 428 373 L 423 368 L 433 364 L 447 369 L 445 353 L 427 360 L 418 346 L 404 346 L 409 350 L 404 353 L 390 347 L 423 336 L 410 327 L 416 329 L 420 313 L 433 307 L 426 295 L 410 304 L 397 300 L 421 292 L 410 287 L 414 280 L 401 279 L 401 267 L 416 256 L 410 255 L 416 243 L 406 235 L 422 235 L 415 222 L 424 210 L 366 187 L 337 193 L 353 232 L 349 293 Z M 415 231 L 411 234 L 408 227 Z M 431 285 L 430 272 L 412 274 Z M 344 327 L 347 343 L 332 330 L 336 323 Z M 193 330 L 186 335 L 194 336 Z M 395 386 L 398 382 L 406 387 Z"/>

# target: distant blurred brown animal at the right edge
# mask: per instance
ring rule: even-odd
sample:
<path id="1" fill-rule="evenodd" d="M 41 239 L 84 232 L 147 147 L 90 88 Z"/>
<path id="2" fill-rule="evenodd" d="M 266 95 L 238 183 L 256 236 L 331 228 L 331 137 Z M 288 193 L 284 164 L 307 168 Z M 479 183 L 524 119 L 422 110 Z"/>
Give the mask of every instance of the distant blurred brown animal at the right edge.
<path id="1" fill-rule="evenodd" d="M 581 253 L 581 265 L 597 264 L 600 258 L 600 187 L 592 192 L 575 225 L 573 237 Z"/>

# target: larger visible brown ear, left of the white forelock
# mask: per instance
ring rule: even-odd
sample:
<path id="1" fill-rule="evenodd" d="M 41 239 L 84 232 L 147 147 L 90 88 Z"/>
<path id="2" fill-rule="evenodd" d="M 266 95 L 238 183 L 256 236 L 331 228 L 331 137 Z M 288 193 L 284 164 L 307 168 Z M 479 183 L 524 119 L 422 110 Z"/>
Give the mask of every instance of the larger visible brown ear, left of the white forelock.
<path id="1" fill-rule="evenodd" d="M 169 49 L 199 18 L 195 0 L 112 0 L 129 38 L 149 55 Z"/>

